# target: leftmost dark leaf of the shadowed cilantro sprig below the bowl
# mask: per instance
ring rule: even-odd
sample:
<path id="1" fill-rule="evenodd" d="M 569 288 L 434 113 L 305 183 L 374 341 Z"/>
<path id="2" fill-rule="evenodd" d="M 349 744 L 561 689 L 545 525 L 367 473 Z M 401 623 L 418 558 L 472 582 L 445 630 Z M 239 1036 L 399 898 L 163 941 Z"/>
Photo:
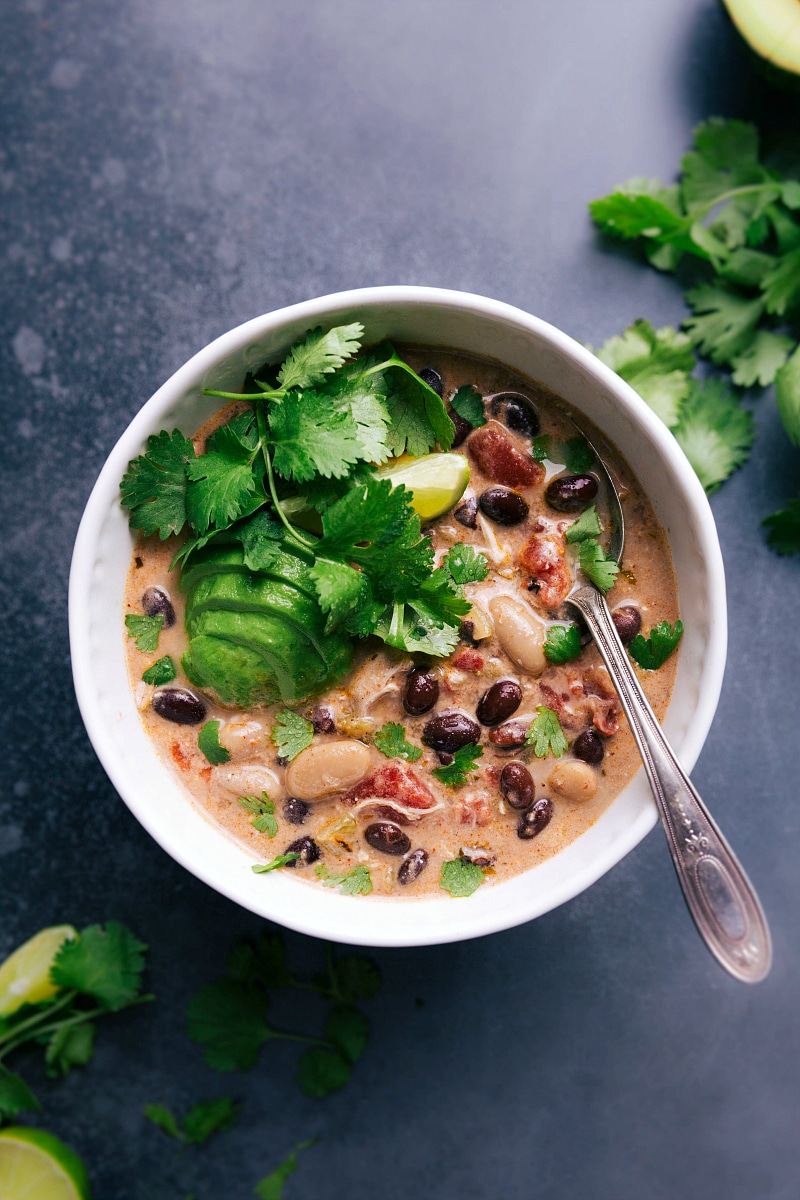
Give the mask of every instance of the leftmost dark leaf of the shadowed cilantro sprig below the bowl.
<path id="1" fill-rule="evenodd" d="M 249 1070 L 272 1038 L 264 991 L 234 979 L 206 984 L 190 1001 L 186 1032 L 213 1070 Z"/>

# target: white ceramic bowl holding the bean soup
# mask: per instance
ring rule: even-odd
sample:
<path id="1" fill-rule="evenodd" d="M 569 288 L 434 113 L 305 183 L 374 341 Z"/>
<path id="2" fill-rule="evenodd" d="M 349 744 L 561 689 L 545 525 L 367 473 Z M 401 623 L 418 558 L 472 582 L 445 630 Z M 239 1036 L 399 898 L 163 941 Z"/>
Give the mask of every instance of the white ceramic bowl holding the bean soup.
<path id="1" fill-rule="evenodd" d="M 133 546 L 120 479 L 148 436 L 194 433 L 218 408 L 203 388 L 233 390 L 245 372 L 279 360 L 315 325 L 361 320 L 367 340 L 446 346 L 500 360 L 585 413 L 645 484 L 666 529 L 686 626 L 664 730 L 694 766 L 716 709 L 726 654 L 724 575 L 705 493 L 676 442 L 613 371 L 558 329 L 495 300 L 434 288 L 366 288 L 267 313 L 196 354 L 133 419 L 91 493 L 70 577 L 70 638 L 80 712 L 112 782 L 156 841 L 217 892 L 291 929 L 361 946 L 422 946 L 476 937 L 539 917 L 583 892 L 656 822 L 639 772 L 565 851 L 469 899 L 363 900 L 308 887 L 288 872 L 253 875 L 252 858 L 193 806 L 145 736 L 125 666 L 126 574 Z"/>

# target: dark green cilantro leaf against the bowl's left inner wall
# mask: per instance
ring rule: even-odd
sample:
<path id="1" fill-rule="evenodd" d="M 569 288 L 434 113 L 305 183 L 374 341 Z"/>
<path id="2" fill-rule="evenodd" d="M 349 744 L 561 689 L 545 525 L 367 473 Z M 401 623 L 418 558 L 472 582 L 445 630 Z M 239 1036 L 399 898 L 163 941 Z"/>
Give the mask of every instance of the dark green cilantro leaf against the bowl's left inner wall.
<path id="1" fill-rule="evenodd" d="M 157 533 L 163 541 L 186 524 L 186 466 L 194 446 L 180 430 L 154 433 L 148 451 L 128 463 L 122 476 L 122 504 L 131 510 L 131 524 L 145 538 Z"/>

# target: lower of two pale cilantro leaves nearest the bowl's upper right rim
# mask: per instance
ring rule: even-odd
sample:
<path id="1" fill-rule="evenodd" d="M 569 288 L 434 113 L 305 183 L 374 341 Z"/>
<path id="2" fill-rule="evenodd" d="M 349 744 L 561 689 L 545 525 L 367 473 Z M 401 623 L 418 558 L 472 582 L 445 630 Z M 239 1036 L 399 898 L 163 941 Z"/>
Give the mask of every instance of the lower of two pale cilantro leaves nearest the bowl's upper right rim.
<path id="1" fill-rule="evenodd" d="M 745 462 L 756 437 L 752 415 L 720 379 L 692 380 L 673 432 L 706 492 Z"/>

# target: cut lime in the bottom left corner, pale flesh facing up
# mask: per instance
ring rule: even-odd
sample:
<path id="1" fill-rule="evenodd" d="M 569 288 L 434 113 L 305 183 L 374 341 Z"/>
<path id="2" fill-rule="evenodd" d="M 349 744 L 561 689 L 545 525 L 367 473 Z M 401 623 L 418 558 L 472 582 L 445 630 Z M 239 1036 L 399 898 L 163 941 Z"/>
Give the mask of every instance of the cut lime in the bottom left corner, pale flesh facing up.
<path id="1" fill-rule="evenodd" d="M 90 1200 L 86 1169 L 52 1133 L 11 1126 L 0 1132 L 2 1200 Z"/>

